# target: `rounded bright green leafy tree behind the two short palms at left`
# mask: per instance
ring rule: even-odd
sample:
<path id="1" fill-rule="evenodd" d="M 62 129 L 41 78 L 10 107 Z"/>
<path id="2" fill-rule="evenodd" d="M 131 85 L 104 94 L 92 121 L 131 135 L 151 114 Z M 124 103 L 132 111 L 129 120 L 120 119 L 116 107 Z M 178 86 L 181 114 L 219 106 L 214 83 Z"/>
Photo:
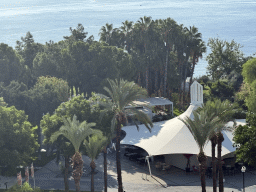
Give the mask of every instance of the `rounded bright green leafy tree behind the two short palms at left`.
<path id="1" fill-rule="evenodd" d="M 89 100 L 85 99 L 82 95 L 73 96 L 69 101 L 61 103 L 53 115 L 50 115 L 49 113 L 44 115 L 40 123 L 45 136 L 44 144 L 51 144 L 50 137 L 64 124 L 63 117 L 72 118 L 74 115 L 77 116 L 77 119 L 80 122 L 97 122 L 95 128 L 103 131 L 104 135 L 106 135 L 108 133 L 107 127 L 110 127 L 110 121 L 112 117 L 106 113 L 104 118 L 101 120 L 101 109 L 99 106 L 97 106 L 97 104 L 95 104 L 94 101 L 95 96 L 89 98 Z M 68 140 L 65 138 L 59 138 L 57 141 L 58 142 L 55 145 L 59 149 L 60 153 L 64 155 L 74 154 L 74 149 Z"/>

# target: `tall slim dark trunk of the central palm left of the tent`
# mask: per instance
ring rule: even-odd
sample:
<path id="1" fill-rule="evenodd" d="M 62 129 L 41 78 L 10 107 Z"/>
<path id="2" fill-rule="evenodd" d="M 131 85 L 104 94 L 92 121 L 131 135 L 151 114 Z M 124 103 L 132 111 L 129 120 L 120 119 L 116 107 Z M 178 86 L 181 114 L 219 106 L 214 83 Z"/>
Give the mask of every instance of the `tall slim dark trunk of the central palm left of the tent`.
<path id="1" fill-rule="evenodd" d="M 122 184 L 122 172 L 121 172 L 121 160 L 120 160 L 120 137 L 121 137 L 121 120 L 117 118 L 117 128 L 116 128 L 116 169 L 117 169 L 117 182 L 118 182 L 118 192 L 123 192 Z"/>

